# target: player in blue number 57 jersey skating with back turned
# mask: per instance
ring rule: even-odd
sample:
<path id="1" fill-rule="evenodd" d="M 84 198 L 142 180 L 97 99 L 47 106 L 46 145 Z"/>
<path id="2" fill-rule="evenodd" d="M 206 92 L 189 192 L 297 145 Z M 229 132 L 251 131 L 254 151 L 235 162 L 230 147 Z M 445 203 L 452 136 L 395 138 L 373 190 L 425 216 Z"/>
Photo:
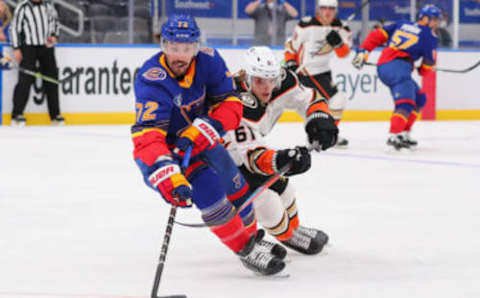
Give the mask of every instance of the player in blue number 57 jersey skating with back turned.
<path id="1" fill-rule="evenodd" d="M 378 77 L 390 88 L 395 110 L 390 119 L 390 137 L 387 145 L 395 150 L 413 149 L 417 142 L 410 137 L 410 130 L 427 100 L 418 84 L 412 79 L 414 62 L 423 58 L 420 75 L 432 71 L 435 65 L 437 37 L 433 32 L 438 26 L 441 11 L 434 5 L 425 5 L 416 23 L 401 21 L 372 31 L 353 59 L 353 65 L 361 69 L 368 52 L 387 42 L 378 60 Z"/>

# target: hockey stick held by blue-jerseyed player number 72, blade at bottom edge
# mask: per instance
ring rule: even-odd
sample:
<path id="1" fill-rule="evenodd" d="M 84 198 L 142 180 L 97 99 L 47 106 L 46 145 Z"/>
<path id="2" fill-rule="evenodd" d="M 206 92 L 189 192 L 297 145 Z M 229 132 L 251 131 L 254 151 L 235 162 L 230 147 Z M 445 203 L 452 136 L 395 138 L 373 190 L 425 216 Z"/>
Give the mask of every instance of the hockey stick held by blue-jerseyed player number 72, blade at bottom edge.
<path id="1" fill-rule="evenodd" d="M 185 151 L 185 157 L 182 160 L 182 171 L 188 167 L 190 162 L 190 156 L 192 154 L 192 147 L 188 147 Z M 165 235 L 163 236 L 162 249 L 160 251 L 160 257 L 158 259 L 157 270 L 155 272 L 155 280 L 153 282 L 151 298 L 187 298 L 186 295 L 169 295 L 158 296 L 158 287 L 160 285 L 160 279 L 162 278 L 163 267 L 165 266 L 165 259 L 167 258 L 168 245 L 170 244 L 170 237 L 172 236 L 173 224 L 175 223 L 175 216 L 177 214 L 177 206 L 172 205 L 170 208 L 170 215 L 168 216 L 167 228 Z"/>

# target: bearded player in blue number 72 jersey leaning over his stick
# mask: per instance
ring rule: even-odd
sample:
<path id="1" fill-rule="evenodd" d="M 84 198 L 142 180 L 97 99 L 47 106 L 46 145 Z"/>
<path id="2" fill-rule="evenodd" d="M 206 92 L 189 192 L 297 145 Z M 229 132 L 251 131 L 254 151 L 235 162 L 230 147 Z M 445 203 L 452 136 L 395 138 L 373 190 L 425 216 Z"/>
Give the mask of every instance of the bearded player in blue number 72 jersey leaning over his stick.
<path id="1" fill-rule="evenodd" d="M 242 103 L 219 53 L 199 48 L 191 16 L 173 15 L 162 26 L 161 51 L 135 80 L 134 159 L 144 181 L 170 204 L 195 204 L 211 231 L 250 270 L 275 274 L 285 263 L 256 229 L 252 206 L 240 213 L 249 186 L 220 144 L 238 127 Z M 185 173 L 179 161 L 193 146 Z"/>

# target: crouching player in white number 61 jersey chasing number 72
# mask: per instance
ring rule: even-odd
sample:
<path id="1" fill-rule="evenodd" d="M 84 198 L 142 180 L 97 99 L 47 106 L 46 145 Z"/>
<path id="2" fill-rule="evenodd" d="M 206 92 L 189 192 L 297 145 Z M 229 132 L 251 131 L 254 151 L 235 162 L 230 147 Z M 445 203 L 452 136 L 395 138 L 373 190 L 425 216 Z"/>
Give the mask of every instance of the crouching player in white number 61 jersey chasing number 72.
<path id="1" fill-rule="evenodd" d="M 256 189 L 287 164 L 291 167 L 285 176 L 310 168 L 310 151 L 306 147 L 276 150 L 263 139 L 285 109 L 294 109 L 305 119 L 308 142 L 315 150 L 333 146 L 338 128 L 325 98 L 302 86 L 294 72 L 281 68 L 269 48 L 248 49 L 245 61 L 245 69 L 235 77 L 244 105 L 243 118 L 240 126 L 224 137 L 224 145 L 251 189 Z M 254 201 L 254 210 L 268 233 L 296 251 L 317 254 L 328 241 L 324 232 L 300 225 L 295 191 L 286 177 Z"/>

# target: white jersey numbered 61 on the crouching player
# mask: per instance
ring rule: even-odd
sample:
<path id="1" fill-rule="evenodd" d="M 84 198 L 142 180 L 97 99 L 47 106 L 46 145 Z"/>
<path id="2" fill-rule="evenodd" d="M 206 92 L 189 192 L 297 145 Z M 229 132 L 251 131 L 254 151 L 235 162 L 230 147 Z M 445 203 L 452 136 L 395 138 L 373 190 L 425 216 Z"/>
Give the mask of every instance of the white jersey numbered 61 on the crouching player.
<path id="1" fill-rule="evenodd" d="M 295 110 L 305 119 L 310 104 L 325 99 L 313 89 L 301 85 L 298 77 L 285 69 L 282 70 L 280 88 L 274 90 L 267 104 L 262 104 L 238 78 L 236 84 L 243 102 L 243 118 L 236 130 L 224 136 L 224 144 L 237 166 L 244 165 L 253 173 L 265 174 L 251 164 L 248 153 L 260 147 L 268 148 L 264 137 L 273 129 L 283 111 Z"/>

